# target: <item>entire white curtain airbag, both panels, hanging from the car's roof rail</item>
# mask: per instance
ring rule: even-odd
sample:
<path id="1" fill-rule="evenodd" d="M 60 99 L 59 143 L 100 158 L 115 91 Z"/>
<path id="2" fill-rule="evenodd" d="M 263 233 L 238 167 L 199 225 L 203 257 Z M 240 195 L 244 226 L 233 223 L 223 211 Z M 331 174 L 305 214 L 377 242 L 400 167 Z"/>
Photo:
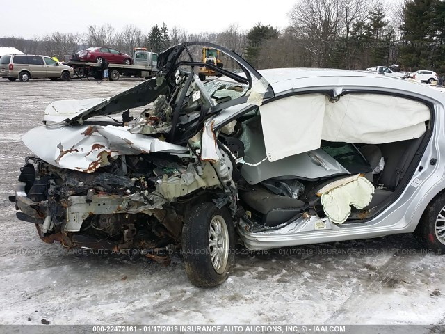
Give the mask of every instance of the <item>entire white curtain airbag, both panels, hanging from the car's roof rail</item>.
<path id="1" fill-rule="evenodd" d="M 381 144 L 419 138 L 430 119 L 426 104 L 382 94 L 285 97 L 260 107 L 269 161 L 320 147 L 321 140 Z"/>

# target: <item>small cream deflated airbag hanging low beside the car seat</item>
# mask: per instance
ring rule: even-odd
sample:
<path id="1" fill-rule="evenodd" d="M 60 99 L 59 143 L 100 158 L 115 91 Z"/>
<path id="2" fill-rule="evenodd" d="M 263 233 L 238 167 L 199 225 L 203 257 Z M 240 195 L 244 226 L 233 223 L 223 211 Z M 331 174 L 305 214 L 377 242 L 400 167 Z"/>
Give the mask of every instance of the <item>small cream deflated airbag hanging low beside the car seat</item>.
<path id="1" fill-rule="evenodd" d="M 350 215 L 350 206 L 363 209 L 373 198 L 374 186 L 365 177 L 338 186 L 321 195 L 323 210 L 332 223 L 342 224 Z"/>

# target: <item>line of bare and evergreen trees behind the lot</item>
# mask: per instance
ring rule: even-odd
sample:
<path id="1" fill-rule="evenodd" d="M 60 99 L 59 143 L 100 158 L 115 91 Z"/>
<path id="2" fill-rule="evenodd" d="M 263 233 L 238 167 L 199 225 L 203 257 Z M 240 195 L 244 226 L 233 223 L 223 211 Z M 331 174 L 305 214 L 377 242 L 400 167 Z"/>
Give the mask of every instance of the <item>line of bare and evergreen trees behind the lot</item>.
<path id="1" fill-rule="evenodd" d="M 180 42 L 215 42 L 244 56 L 257 68 L 334 67 L 364 70 L 399 65 L 399 70 L 445 74 L 445 0 L 297 0 L 282 30 L 261 23 L 249 31 L 236 24 L 216 33 L 188 33 L 165 23 L 143 32 L 130 24 L 90 25 L 87 33 L 54 32 L 42 38 L 0 38 L 0 45 L 27 54 L 62 57 L 90 46 L 131 54 L 133 47 L 162 51 Z M 232 68 L 233 63 L 225 64 Z"/>

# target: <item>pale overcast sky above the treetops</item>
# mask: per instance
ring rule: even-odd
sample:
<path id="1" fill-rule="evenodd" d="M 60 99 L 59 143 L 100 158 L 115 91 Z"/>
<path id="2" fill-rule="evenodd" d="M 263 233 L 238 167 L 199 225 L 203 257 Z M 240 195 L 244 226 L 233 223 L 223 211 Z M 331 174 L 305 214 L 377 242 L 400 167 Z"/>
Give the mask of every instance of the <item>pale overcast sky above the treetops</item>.
<path id="1" fill-rule="evenodd" d="M 148 33 L 154 24 L 181 26 L 188 33 L 218 32 L 230 24 L 248 30 L 261 22 L 277 28 L 289 24 L 297 0 L 94 0 L 1 1 L 0 36 L 41 37 L 47 33 L 86 33 L 88 25 L 111 24 L 116 31 L 134 24 Z"/>

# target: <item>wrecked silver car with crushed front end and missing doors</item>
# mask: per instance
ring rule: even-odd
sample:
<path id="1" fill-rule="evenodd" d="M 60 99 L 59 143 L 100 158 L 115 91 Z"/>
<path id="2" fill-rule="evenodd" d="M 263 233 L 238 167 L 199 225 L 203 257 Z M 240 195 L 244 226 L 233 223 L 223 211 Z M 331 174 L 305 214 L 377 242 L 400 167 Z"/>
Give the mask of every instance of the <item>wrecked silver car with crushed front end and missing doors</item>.
<path id="1" fill-rule="evenodd" d="M 243 72 L 195 61 L 197 46 Z M 223 77 L 203 83 L 200 65 Z M 267 250 L 414 232 L 445 251 L 443 93 L 372 72 L 257 71 L 204 42 L 158 67 L 113 97 L 53 102 L 24 134 L 34 155 L 10 200 L 44 242 L 163 264 L 178 251 L 200 287 L 227 279 L 237 238 Z"/>

